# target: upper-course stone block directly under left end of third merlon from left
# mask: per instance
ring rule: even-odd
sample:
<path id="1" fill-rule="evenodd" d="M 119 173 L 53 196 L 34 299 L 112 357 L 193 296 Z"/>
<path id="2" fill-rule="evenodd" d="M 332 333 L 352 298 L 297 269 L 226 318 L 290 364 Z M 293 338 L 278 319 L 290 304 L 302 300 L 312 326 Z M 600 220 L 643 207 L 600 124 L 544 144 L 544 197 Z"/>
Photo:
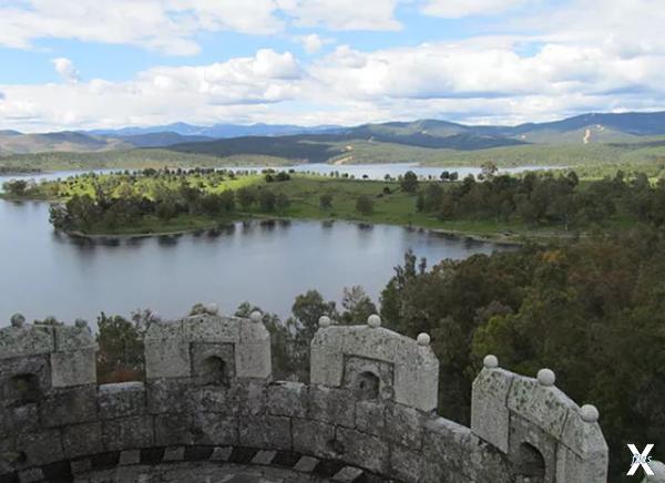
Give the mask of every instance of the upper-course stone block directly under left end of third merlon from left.
<path id="1" fill-rule="evenodd" d="M 345 389 L 311 386 L 307 417 L 316 421 L 354 428 L 356 400 Z"/>

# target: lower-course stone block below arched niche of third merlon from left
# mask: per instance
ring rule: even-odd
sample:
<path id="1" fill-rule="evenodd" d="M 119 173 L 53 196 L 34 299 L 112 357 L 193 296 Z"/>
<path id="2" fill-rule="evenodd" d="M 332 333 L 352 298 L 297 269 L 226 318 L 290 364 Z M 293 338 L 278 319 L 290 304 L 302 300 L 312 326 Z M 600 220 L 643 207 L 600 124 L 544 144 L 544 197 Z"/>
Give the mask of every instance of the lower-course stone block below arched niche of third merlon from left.
<path id="1" fill-rule="evenodd" d="M 369 471 L 387 474 L 390 451 L 388 442 L 356 430 L 337 428 L 337 441 L 342 461 Z"/>

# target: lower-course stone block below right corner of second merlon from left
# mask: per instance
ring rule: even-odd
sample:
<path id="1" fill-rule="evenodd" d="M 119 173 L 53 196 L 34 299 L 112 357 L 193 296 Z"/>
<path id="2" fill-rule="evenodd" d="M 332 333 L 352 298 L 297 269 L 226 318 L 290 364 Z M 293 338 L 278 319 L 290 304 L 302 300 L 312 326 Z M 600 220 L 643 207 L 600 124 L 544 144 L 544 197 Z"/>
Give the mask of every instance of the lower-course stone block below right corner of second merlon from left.
<path id="1" fill-rule="evenodd" d="M 290 450 L 290 420 L 276 415 L 247 415 L 238 421 L 241 445 Z"/>

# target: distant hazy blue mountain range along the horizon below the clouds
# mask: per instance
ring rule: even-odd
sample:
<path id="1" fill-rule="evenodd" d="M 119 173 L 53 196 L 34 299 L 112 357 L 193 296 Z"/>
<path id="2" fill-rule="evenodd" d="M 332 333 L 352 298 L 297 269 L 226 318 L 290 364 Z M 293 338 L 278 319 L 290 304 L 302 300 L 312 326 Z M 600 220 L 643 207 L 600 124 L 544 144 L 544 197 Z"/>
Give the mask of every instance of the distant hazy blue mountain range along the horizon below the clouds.
<path id="1" fill-rule="evenodd" d="M 352 150 L 352 143 L 429 150 L 474 151 L 525 144 L 661 143 L 665 112 L 590 113 L 561 121 L 515 126 L 464 125 L 439 120 L 364 124 L 354 127 L 288 124 L 185 123 L 88 132 L 23 134 L 0 131 L 0 155 L 41 152 L 108 152 L 162 147 L 219 157 L 265 155 L 326 162 Z"/>

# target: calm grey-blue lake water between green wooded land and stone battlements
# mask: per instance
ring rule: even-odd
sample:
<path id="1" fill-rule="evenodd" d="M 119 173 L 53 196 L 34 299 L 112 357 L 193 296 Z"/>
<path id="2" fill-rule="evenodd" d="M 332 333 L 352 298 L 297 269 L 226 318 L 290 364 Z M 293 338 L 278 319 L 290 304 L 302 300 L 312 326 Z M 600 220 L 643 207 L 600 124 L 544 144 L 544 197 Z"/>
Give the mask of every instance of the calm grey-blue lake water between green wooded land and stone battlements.
<path id="1" fill-rule="evenodd" d="M 180 317 L 198 301 L 232 314 L 247 300 L 285 317 L 308 289 L 339 300 L 344 287 L 361 285 L 378 301 L 407 249 L 431 265 L 498 248 L 344 222 L 236 223 L 217 236 L 91 243 L 54 233 L 47 203 L 0 201 L 0 326 L 18 311 L 29 320 L 94 321 L 100 311 L 139 308 Z"/>

